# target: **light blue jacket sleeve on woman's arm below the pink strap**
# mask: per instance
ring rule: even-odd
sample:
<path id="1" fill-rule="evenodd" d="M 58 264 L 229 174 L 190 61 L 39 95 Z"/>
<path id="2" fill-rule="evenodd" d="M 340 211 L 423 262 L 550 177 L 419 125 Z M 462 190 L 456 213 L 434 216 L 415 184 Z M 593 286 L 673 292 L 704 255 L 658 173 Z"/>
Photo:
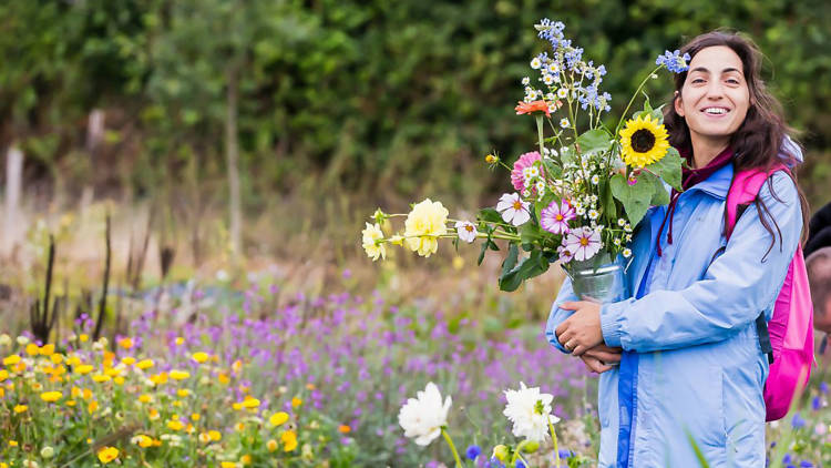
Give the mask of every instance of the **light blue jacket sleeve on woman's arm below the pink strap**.
<path id="1" fill-rule="evenodd" d="M 770 234 L 761 224 L 756 204 L 751 204 L 704 278 L 680 291 L 655 291 L 639 299 L 604 305 L 601 327 L 606 344 L 653 352 L 719 342 L 767 311 L 784 282 L 802 230 L 793 181 L 777 172 L 771 182 L 776 197 L 767 183 L 759 191 L 770 212 L 766 218 L 772 217 L 779 226 L 777 232 L 770 223 L 777 236 L 769 253 Z"/>

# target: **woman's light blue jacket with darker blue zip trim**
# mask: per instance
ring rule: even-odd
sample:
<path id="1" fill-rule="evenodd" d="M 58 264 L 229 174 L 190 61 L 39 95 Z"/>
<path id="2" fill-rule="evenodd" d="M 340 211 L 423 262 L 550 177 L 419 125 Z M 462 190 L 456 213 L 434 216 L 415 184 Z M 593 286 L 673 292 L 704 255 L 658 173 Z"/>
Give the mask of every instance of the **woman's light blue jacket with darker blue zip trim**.
<path id="1" fill-rule="evenodd" d="M 728 164 L 680 195 L 673 244 L 666 226 L 660 233 L 663 256 L 655 244 L 665 206 L 652 207 L 635 231 L 626 276 L 635 294 L 648 275 L 640 298 L 601 311 L 604 340 L 625 350 L 620 365 L 599 376 L 601 467 L 626 458 L 629 467 L 697 467 L 690 436 L 710 467 L 765 466 L 768 360 L 755 322 L 761 312 L 770 319 L 802 213 L 796 185 L 777 172 L 781 201 L 767 184 L 760 196 L 779 225 L 781 248 L 777 236 L 762 261 L 771 236 L 753 204 L 725 244 L 732 174 Z M 548 342 L 564 353 L 554 330 L 572 314 L 558 308 L 566 301 L 576 301 L 567 278 L 546 325 Z"/>

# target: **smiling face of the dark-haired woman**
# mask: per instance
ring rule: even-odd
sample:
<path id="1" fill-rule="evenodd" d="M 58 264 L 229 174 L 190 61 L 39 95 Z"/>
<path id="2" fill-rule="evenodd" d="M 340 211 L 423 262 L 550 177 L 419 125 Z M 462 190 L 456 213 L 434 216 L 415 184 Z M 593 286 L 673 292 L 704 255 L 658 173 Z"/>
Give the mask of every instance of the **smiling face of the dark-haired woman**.
<path id="1" fill-rule="evenodd" d="M 696 53 L 675 100 L 675 111 L 687 121 L 693 141 L 727 145 L 749 106 L 750 91 L 739 55 L 726 45 Z"/>

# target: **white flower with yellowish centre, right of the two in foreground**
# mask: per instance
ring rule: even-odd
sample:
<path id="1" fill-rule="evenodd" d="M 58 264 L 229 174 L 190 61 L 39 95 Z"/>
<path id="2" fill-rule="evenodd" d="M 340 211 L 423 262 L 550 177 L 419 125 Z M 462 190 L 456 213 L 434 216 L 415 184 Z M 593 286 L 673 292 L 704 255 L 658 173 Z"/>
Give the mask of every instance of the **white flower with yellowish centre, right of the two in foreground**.
<path id="1" fill-rule="evenodd" d="M 548 419 L 551 424 L 560 420 L 551 414 L 551 401 L 554 397 L 541 394 L 540 387 L 527 388 L 520 383 L 519 390 L 505 390 L 507 405 L 503 414 L 513 423 L 513 435 L 529 440 L 543 441 L 548 437 Z"/>

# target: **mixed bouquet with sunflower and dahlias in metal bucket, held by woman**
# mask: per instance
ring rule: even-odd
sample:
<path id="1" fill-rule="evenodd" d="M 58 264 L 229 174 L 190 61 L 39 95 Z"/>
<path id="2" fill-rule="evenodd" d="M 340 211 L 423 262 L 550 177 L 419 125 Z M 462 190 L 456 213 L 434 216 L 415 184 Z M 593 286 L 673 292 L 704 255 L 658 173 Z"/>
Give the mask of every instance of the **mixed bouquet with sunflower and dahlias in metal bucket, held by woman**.
<path id="1" fill-rule="evenodd" d="M 512 165 L 497 154 L 485 156 L 491 167 L 510 171 L 515 192 L 480 210 L 473 221 L 450 218 L 430 199 L 409 214 L 379 208 L 375 222 L 366 224 L 362 245 L 372 260 L 386 257 L 387 244 L 429 257 L 442 238 L 456 246 L 479 240 L 481 264 L 488 250 L 500 250 L 495 241 L 506 241 L 502 291 L 515 291 L 558 260 L 581 297 L 618 301 L 628 294 L 623 271 L 632 257 L 634 226 L 650 205 L 668 204 L 668 186 L 680 190 L 681 182 L 683 159 L 669 145 L 661 110 L 649 105 L 644 87 L 660 69 L 686 70 L 689 57 L 659 55 L 611 130 L 603 121 L 612 99 L 601 90 L 606 68 L 583 60 L 583 49 L 565 38 L 562 22 L 544 19 L 535 28 L 552 50 L 531 60 L 534 79 L 522 79 L 524 98 L 515 110 L 534 118 L 538 147 Z M 643 110 L 626 120 L 642 93 Z M 396 217 L 406 217 L 404 230 L 388 236 L 381 226 Z"/>

